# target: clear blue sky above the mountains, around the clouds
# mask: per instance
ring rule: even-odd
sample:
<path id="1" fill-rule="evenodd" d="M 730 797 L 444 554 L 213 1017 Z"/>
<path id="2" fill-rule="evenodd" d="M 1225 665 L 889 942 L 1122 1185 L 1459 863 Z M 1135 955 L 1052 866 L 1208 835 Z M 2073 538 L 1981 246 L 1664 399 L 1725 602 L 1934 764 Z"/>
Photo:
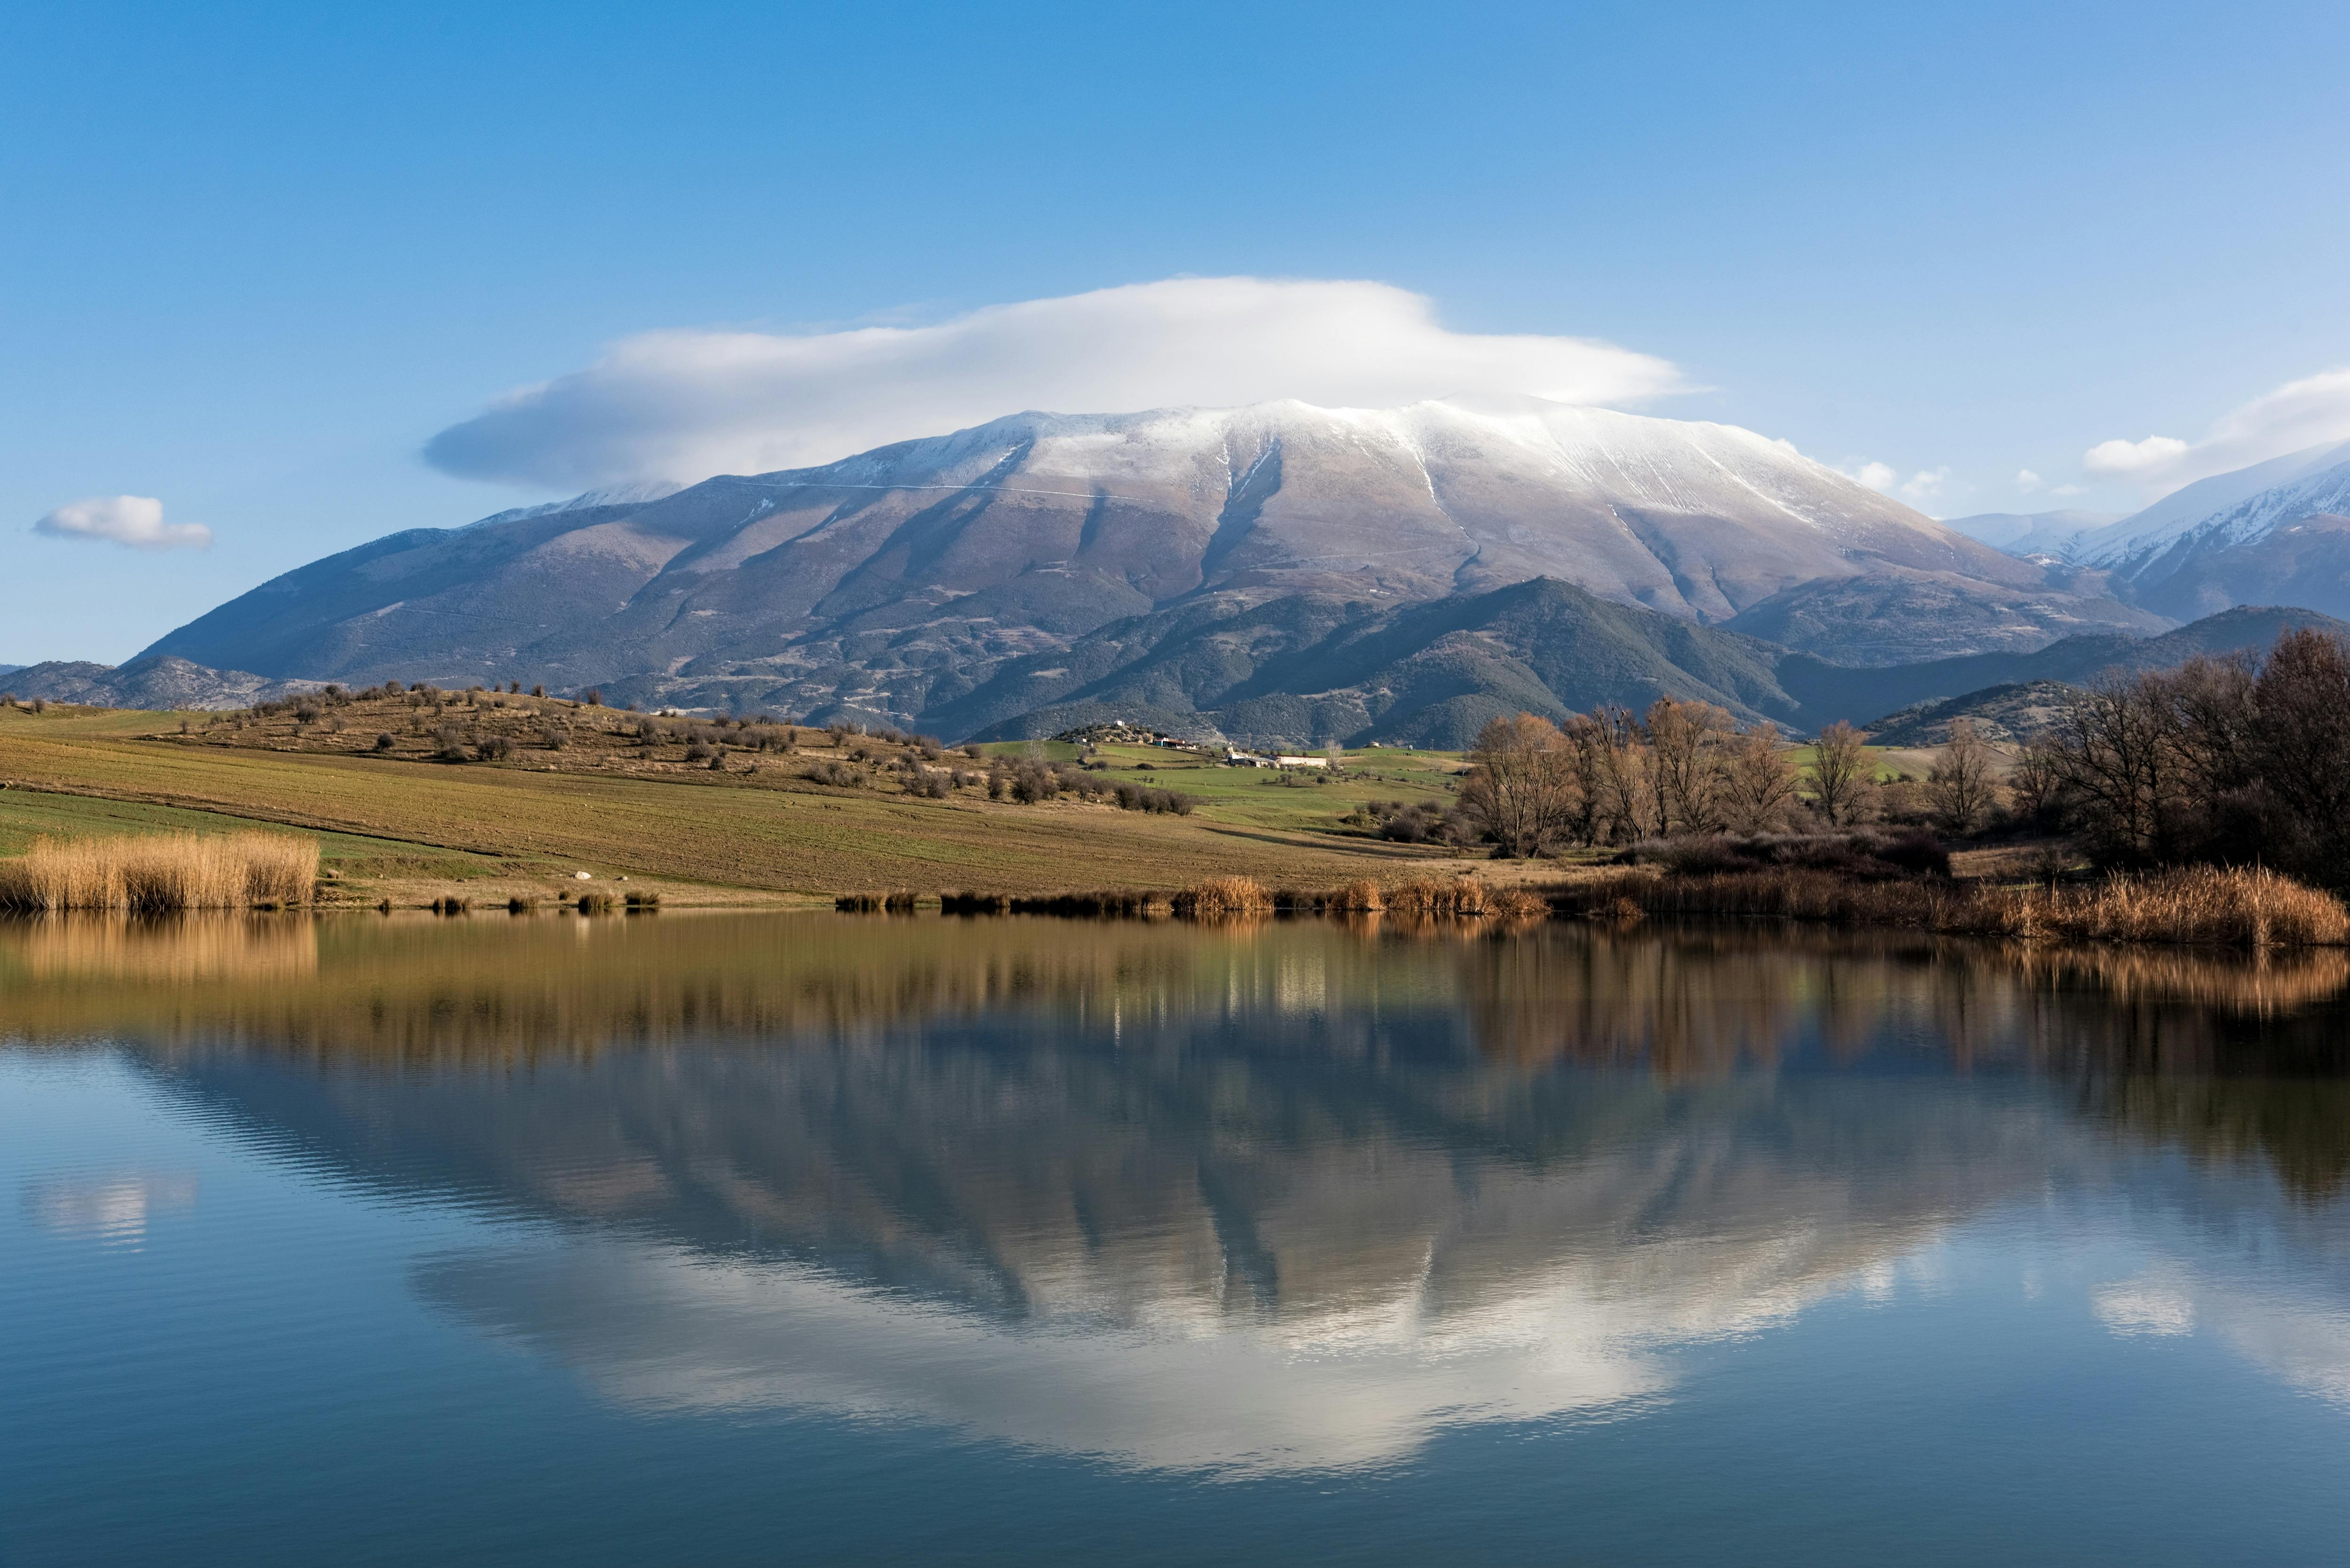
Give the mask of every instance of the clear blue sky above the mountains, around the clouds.
<path id="1" fill-rule="evenodd" d="M 14 0 L 0 663 L 113 663 L 306 559 L 562 494 L 545 451 L 435 449 L 482 480 L 425 444 L 639 334 L 801 353 L 1173 277 L 1598 339 L 1687 388 L 1622 407 L 1875 463 L 1934 515 L 2129 510 L 2336 402 L 2350 435 L 2345 59 L 2341 0 Z M 966 397 L 1112 386 L 1022 343 Z M 630 386 L 639 416 L 698 383 Z M 85 498 L 160 512 L 33 531 Z"/>

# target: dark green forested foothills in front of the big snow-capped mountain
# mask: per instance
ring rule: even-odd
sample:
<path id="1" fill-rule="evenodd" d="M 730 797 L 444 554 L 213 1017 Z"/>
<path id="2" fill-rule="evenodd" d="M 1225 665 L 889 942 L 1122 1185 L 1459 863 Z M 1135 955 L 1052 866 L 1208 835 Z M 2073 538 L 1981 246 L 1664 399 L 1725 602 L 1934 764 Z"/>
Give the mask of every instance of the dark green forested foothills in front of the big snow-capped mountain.
<path id="1" fill-rule="evenodd" d="M 1126 719 L 1241 745 L 1464 748 L 1488 719 L 1563 719 L 1659 696 L 1795 722 L 1781 649 L 1535 578 L 1396 609 L 1332 595 L 1215 595 L 1006 663 L 928 715 L 1015 741 Z"/>

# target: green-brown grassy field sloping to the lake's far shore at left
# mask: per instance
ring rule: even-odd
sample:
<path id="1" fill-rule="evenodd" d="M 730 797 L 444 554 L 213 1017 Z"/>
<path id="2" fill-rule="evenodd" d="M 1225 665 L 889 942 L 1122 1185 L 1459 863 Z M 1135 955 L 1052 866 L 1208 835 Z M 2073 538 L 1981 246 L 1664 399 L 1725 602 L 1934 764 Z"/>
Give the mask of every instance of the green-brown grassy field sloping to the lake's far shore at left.
<path id="1" fill-rule="evenodd" d="M 303 736 L 261 726 L 181 736 L 179 722 L 0 710 L 0 780 L 12 785 L 0 790 L 0 851 L 38 835 L 282 823 L 322 835 L 341 896 L 364 903 L 425 903 L 444 882 L 470 882 L 482 898 L 557 893 L 576 870 L 717 903 L 726 889 L 830 898 L 891 886 L 1184 886 L 1220 875 L 1335 884 L 1403 877 L 1429 860 L 1431 851 L 1377 842 L 1340 818 L 1365 799 L 1441 797 L 1445 766 L 1459 766 L 1426 752 L 1386 766 L 1389 755 L 1375 752 L 1358 778 L 1285 785 L 1246 769 L 1170 766 L 1144 748 L 1104 757 L 1121 778 L 1206 802 L 1194 816 L 1149 816 L 1069 799 L 994 804 L 971 790 L 916 799 L 818 788 L 759 757 L 726 773 L 665 757 L 604 771 L 609 759 L 576 745 L 555 755 L 559 766 L 442 764 L 418 748 L 280 750 Z M 350 731 L 367 736 L 374 724 Z"/>

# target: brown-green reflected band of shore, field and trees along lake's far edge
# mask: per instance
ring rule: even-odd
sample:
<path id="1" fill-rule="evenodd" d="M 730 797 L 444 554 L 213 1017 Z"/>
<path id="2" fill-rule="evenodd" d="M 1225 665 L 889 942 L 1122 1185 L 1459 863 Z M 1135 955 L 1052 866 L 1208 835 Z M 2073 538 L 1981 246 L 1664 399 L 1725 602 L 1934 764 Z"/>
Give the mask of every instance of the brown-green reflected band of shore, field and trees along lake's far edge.
<path id="1" fill-rule="evenodd" d="M 1788 926 L 1368 919 L 1194 929 L 1050 919 L 92 919 L 0 926 L 0 1034 L 223 1041 L 322 1060 L 505 1063 L 677 1041 L 874 1041 L 945 1020 L 1241 1030 L 1250 1051 L 1476 1051 L 1495 1114 L 1549 1067 L 1704 1081 L 1932 1048 L 2061 1072 L 2082 1107 L 2296 1190 L 2350 1175 L 2350 954 L 2033 950 Z M 1290 1025 L 1311 1020 L 1297 1032 Z M 1288 1041 L 1288 1044 L 1283 1044 Z M 2277 1081 L 2282 1079 L 2282 1081 Z M 1415 1114 L 1431 1114 L 1429 1107 Z M 1243 1248 L 1246 1251 L 1246 1248 Z"/>

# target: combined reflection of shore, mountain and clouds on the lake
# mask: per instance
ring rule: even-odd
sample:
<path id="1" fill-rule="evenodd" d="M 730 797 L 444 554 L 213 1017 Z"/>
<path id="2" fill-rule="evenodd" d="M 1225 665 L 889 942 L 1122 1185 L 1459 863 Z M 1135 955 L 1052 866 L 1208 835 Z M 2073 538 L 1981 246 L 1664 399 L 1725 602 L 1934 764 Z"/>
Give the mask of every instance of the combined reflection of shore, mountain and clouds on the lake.
<path id="1" fill-rule="evenodd" d="M 136 1039 L 254 1143 L 550 1225 L 416 1284 L 646 1406 L 1382 1460 L 1666 1396 L 1676 1347 L 2148 1147 L 2204 1164 L 2157 1159 L 2176 1267 L 2115 1331 L 2200 1309 L 2343 1380 L 2324 969 L 832 919 L 327 924 L 310 978 L 113 1001 L 42 964 L 0 966 L 0 1030 Z M 2289 1288 L 2197 1269 L 2247 1237 Z"/>

